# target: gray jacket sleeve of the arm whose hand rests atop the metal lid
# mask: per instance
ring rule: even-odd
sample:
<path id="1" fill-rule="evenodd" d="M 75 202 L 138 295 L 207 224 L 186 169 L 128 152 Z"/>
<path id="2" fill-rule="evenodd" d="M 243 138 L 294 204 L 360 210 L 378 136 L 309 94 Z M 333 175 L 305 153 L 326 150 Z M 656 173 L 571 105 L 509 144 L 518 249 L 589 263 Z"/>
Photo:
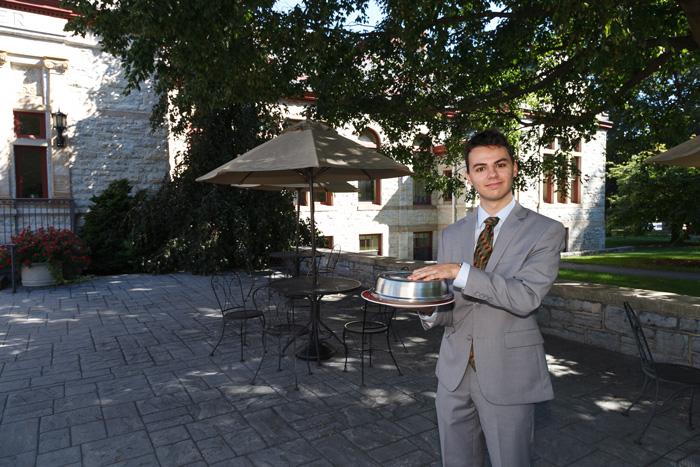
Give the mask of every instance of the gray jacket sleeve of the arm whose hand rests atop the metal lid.
<path id="1" fill-rule="evenodd" d="M 540 306 L 557 278 L 564 238 L 564 226 L 553 222 L 515 274 L 505 277 L 472 268 L 462 294 L 518 316 L 531 314 Z"/>

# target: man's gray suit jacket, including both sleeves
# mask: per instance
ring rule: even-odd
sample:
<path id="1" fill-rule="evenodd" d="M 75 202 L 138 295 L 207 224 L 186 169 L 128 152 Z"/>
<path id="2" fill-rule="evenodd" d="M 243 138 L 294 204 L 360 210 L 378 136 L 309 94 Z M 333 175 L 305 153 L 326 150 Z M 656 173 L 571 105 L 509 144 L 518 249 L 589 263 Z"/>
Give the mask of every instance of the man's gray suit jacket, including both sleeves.
<path id="1" fill-rule="evenodd" d="M 442 232 L 438 263 L 472 264 L 476 211 Z M 440 311 L 445 326 L 436 374 L 450 391 L 467 369 L 474 342 L 476 376 L 493 404 L 551 399 L 543 339 L 534 312 L 559 270 L 564 226 L 515 205 L 501 226 L 484 271 L 472 267 L 451 310 Z"/>

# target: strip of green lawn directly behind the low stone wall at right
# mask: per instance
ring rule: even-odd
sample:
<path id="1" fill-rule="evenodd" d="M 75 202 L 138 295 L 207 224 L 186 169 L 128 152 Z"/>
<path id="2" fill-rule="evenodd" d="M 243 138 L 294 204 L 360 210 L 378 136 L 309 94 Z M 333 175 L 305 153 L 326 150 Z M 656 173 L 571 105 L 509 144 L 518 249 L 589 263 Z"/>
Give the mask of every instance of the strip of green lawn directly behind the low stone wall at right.
<path id="1" fill-rule="evenodd" d="M 620 287 L 632 287 L 635 289 L 658 290 L 672 292 L 681 295 L 700 297 L 700 284 L 698 281 L 666 279 L 657 277 L 626 276 L 621 274 L 608 274 L 601 272 L 573 271 L 560 269 L 559 279 L 592 282 L 594 284 L 610 284 Z"/>

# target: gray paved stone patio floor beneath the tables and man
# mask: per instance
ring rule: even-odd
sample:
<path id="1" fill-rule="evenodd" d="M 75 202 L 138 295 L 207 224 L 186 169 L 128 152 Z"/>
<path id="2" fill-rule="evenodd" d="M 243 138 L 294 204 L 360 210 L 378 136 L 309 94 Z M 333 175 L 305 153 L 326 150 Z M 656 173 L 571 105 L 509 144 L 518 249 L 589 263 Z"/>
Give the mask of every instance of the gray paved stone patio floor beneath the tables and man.
<path id="1" fill-rule="evenodd" d="M 361 306 L 340 298 L 323 304 L 336 330 Z M 398 315 L 403 376 L 377 353 L 360 386 L 357 359 L 343 372 L 339 353 L 312 375 L 298 364 L 296 391 L 290 360 L 278 372 L 271 356 L 253 386 L 257 335 L 243 363 L 233 333 L 209 356 L 214 304 L 209 278 L 189 274 L 0 291 L 0 466 L 439 465 L 440 331 Z M 535 465 L 700 465 L 685 403 L 634 444 L 649 403 L 620 413 L 640 387 L 636 359 L 546 340 L 556 399 L 537 407 Z"/>

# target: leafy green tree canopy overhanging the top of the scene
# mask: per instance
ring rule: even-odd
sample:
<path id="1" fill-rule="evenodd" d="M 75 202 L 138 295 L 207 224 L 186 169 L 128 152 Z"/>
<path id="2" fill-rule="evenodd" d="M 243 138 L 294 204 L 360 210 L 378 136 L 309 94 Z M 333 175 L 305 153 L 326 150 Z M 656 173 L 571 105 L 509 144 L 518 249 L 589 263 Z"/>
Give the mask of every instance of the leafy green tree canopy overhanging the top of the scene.
<path id="1" fill-rule="evenodd" d="M 155 79 L 155 122 L 168 114 L 183 130 L 194 109 L 271 105 L 312 90 L 312 115 L 377 122 L 383 149 L 415 163 L 428 189 L 460 186 L 436 165 L 459 163 L 475 129 L 519 131 L 534 145 L 556 135 L 566 151 L 597 129 L 601 112 L 700 61 L 693 0 L 379 0 L 383 18 L 371 28 L 347 26 L 367 21 L 368 0 L 306 0 L 287 12 L 271 0 L 65 3 L 80 14 L 68 28 L 97 33 L 130 88 Z M 417 133 L 447 152 L 416 150 Z M 543 169 L 536 158 L 521 166 Z"/>

